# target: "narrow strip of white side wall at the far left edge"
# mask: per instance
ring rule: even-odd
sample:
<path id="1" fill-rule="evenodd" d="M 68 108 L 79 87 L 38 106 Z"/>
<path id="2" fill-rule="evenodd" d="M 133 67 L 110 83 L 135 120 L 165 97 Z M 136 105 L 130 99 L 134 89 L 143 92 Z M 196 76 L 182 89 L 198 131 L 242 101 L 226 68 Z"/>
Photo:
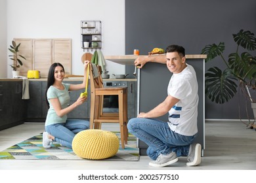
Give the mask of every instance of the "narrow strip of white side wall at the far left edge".
<path id="1" fill-rule="evenodd" d="M 7 0 L 0 0 L 0 78 L 7 76 Z"/>

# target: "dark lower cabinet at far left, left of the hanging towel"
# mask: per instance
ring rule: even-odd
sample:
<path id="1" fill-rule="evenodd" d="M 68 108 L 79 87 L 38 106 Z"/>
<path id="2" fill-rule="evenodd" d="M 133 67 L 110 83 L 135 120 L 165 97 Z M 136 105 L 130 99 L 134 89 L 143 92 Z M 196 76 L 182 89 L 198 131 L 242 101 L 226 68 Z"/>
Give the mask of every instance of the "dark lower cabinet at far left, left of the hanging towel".
<path id="1" fill-rule="evenodd" d="M 0 81 L 0 130 L 24 123 L 26 107 L 22 80 Z"/>

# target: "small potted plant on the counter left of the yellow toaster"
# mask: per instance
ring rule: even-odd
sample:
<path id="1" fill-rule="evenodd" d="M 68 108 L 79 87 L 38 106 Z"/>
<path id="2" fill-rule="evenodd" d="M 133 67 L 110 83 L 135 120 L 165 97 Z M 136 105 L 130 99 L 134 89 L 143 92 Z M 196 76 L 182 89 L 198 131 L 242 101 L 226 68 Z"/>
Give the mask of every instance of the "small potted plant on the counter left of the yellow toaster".
<path id="1" fill-rule="evenodd" d="M 17 69 L 23 65 L 20 58 L 26 59 L 24 58 L 24 56 L 18 54 L 19 47 L 20 47 L 20 44 L 17 45 L 15 41 L 12 41 L 12 45 L 10 45 L 10 48 L 8 48 L 13 53 L 11 56 L 9 56 L 12 59 L 12 64 L 11 64 L 12 76 L 18 76 L 20 73 L 19 71 L 17 71 Z"/>

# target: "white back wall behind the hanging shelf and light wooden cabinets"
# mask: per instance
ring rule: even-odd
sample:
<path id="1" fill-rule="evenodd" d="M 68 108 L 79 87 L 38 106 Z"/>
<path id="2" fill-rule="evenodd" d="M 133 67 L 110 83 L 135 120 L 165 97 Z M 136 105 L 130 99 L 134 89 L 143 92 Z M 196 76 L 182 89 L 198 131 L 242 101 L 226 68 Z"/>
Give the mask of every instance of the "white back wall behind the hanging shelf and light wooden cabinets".
<path id="1" fill-rule="evenodd" d="M 104 56 L 125 54 L 125 0 L 8 0 L 7 44 L 14 38 L 70 38 L 72 74 L 82 75 L 81 20 L 102 22 Z M 6 67 L 10 77 L 11 67 Z M 123 65 L 111 61 L 106 70 L 125 74 Z"/>

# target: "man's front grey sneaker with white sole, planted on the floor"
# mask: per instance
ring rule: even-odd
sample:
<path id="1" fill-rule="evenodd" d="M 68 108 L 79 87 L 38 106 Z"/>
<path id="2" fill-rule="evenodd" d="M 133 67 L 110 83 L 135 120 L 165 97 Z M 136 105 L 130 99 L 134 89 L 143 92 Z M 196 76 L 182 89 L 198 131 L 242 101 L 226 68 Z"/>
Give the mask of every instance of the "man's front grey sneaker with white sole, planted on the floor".
<path id="1" fill-rule="evenodd" d="M 175 163 L 176 161 L 178 161 L 177 154 L 175 152 L 171 152 L 166 155 L 160 154 L 160 156 L 158 156 L 155 161 L 151 161 L 149 165 L 151 167 L 165 167 Z"/>

